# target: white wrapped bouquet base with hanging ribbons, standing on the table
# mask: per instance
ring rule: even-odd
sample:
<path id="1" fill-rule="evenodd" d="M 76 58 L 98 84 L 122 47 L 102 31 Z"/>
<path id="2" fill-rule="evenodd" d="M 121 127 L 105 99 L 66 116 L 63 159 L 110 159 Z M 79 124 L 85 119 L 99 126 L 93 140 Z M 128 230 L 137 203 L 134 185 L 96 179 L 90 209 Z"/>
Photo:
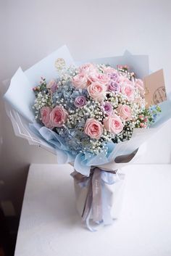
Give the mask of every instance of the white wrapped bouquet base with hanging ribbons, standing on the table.
<path id="1" fill-rule="evenodd" d="M 75 186 L 76 208 L 88 229 L 94 224 L 112 224 L 119 218 L 125 189 L 125 174 L 95 168 L 91 176 L 72 173 Z M 93 176 L 95 178 L 93 178 Z"/>

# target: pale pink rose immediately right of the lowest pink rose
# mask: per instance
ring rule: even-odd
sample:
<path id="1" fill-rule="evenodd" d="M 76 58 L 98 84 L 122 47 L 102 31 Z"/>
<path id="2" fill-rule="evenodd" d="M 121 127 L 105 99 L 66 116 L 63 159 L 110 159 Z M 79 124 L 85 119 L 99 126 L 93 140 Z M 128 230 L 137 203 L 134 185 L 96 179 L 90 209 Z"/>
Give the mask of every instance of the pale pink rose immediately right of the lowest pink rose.
<path id="1" fill-rule="evenodd" d="M 110 133 L 117 134 L 123 130 L 122 120 L 118 115 L 110 115 L 104 118 L 104 128 Z"/>

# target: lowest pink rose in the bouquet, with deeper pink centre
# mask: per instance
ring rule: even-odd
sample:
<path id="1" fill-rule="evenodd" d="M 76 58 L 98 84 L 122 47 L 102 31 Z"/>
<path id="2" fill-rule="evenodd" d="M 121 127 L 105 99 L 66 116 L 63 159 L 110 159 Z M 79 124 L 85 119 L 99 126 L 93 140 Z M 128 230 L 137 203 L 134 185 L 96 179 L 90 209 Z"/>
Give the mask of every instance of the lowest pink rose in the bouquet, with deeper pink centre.
<path id="1" fill-rule="evenodd" d="M 103 126 L 98 120 L 88 118 L 84 127 L 84 133 L 86 133 L 92 139 L 100 139 L 103 133 Z"/>

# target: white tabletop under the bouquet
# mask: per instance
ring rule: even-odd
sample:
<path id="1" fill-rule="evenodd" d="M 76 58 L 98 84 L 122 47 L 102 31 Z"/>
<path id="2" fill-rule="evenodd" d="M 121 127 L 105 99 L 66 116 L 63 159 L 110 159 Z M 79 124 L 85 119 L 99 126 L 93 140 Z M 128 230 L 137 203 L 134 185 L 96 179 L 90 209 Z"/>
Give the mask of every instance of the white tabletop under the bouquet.
<path id="1" fill-rule="evenodd" d="M 130 165 L 120 219 L 91 232 L 70 165 L 30 165 L 15 256 L 170 256 L 171 165 Z"/>

